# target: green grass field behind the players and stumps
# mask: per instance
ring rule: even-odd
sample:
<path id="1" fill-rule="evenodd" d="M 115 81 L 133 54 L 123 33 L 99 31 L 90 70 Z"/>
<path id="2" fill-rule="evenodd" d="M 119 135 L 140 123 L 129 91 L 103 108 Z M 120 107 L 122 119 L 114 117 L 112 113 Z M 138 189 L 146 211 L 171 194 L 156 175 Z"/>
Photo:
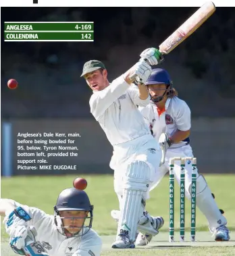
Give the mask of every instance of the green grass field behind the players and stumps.
<path id="1" fill-rule="evenodd" d="M 110 244 L 112 242 L 113 236 L 116 232 L 117 224 L 111 218 L 110 211 L 112 209 L 118 209 L 118 201 L 117 197 L 113 191 L 113 176 L 111 175 L 79 175 L 88 181 L 88 187 L 86 188 L 86 193 L 88 193 L 90 197 L 91 203 L 95 205 L 94 209 L 94 221 L 93 228 L 97 230 L 97 232 L 101 235 L 107 237 L 110 240 Z M 53 214 L 53 206 L 57 200 L 57 196 L 64 188 L 68 188 L 72 186 L 72 181 L 76 178 L 76 176 L 18 176 L 14 178 L 1 178 L 1 198 L 14 199 L 19 203 L 38 207 L 45 211 L 46 213 Z M 211 191 L 215 194 L 215 199 L 219 208 L 224 209 L 225 215 L 228 219 L 228 228 L 230 230 L 235 230 L 235 218 L 234 218 L 234 202 L 235 202 L 235 193 L 231 193 L 232 188 L 235 184 L 235 175 L 205 175 L 207 179 L 207 183 L 209 184 Z M 168 177 L 163 178 L 163 181 L 155 190 L 151 192 L 151 199 L 147 201 L 147 211 L 151 213 L 151 215 L 161 215 L 165 219 L 165 225 L 161 229 L 161 232 L 164 234 L 164 237 L 167 240 L 167 231 L 169 227 L 169 189 L 168 189 Z M 178 195 L 180 191 L 178 186 L 176 185 L 176 202 L 175 202 L 175 222 L 176 222 L 176 230 L 179 228 L 179 220 L 180 220 L 180 209 L 179 209 L 179 197 Z M 208 231 L 207 220 L 205 217 L 197 211 L 197 232 L 206 231 L 209 234 L 209 238 L 211 234 Z M 186 230 L 190 230 L 190 201 L 186 201 Z M 207 233 L 206 233 L 207 234 Z M 107 236 L 109 235 L 109 236 Z M 3 241 L 7 240 L 7 235 L 5 234 L 5 230 L 1 225 L 1 236 Z M 159 236 L 159 235 L 158 235 Z M 178 233 L 176 232 L 176 236 Z M 109 239 L 110 238 L 110 239 Z M 164 240 L 164 238 L 163 238 Z M 233 239 L 235 240 L 235 239 Z M 157 241 L 157 236 L 155 237 L 155 241 Z M 211 238 L 213 241 L 213 238 Z M 234 242 L 234 241 L 233 241 Z M 107 242 L 108 243 L 108 242 Z M 151 244 L 149 245 L 151 246 Z M 203 246 L 203 245 L 202 245 Z M 109 251 L 109 247 L 103 252 L 102 255 L 124 255 L 123 251 Z M 235 255 L 235 243 L 234 247 L 221 247 L 224 248 L 223 255 Z M 213 255 L 221 255 L 221 248 L 216 247 Z M 166 248 L 165 248 L 166 249 Z M 160 249 L 157 253 L 155 249 L 151 249 L 149 247 L 148 250 L 128 250 L 128 255 L 137 256 L 138 253 L 141 255 L 149 256 L 153 255 L 153 251 L 155 251 L 154 255 L 210 255 L 211 249 L 209 247 L 193 247 L 193 253 L 189 253 L 188 250 L 192 250 L 192 248 L 174 248 L 171 250 L 167 250 L 167 254 L 165 254 L 166 250 Z M 207 251 L 208 249 L 208 251 Z M 140 250 L 140 251 L 139 251 Z M 219 251 L 220 250 L 220 251 Z M 230 251 L 233 251 L 233 254 L 230 254 Z M 134 253 L 135 251 L 135 253 Z M 176 252 L 177 251 L 177 252 Z M 125 251 L 127 252 L 127 251 Z M 163 254 L 164 252 L 164 254 Z M 231 251 L 232 252 L 232 251 Z M 137 254 L 136 254 L 137 253 Z M 203 253 L 203 254 L 201 254 Z M 126 254 L 126 253 L 125 253 Z M 6 255 L 7 256 L 7 255 Z"/>

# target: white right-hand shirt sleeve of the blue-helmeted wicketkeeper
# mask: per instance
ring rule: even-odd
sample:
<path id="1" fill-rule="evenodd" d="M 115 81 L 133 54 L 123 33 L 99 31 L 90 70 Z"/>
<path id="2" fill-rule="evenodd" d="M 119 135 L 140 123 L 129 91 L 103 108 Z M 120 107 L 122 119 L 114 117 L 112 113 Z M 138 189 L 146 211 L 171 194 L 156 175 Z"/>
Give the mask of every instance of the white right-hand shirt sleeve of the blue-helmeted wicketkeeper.
<path id="1" fill-rule="evenodd" d="M 180 104 L 176 111 L 176 126 L 178 130 L 186 131 L 191 128 L 191 111 L 185 101 Z"/>

